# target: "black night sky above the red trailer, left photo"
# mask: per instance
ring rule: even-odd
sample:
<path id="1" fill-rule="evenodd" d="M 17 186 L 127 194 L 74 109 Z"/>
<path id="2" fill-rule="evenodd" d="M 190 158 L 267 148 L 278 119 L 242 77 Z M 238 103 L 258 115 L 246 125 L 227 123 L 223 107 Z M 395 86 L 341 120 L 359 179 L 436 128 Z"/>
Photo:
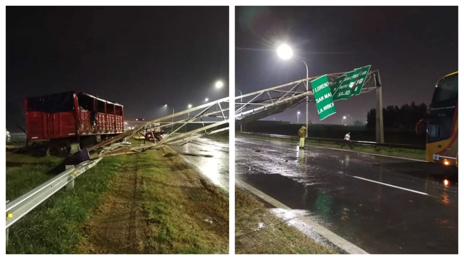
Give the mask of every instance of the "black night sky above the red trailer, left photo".
<path id="1" fill-rule="evenodd" d="M 24 120 L 26 97 L 70 90 L 121 103 L 126 118 L 226 97 L 228 26 L 227 6 L 8 7 L 7 116 Z"/>

